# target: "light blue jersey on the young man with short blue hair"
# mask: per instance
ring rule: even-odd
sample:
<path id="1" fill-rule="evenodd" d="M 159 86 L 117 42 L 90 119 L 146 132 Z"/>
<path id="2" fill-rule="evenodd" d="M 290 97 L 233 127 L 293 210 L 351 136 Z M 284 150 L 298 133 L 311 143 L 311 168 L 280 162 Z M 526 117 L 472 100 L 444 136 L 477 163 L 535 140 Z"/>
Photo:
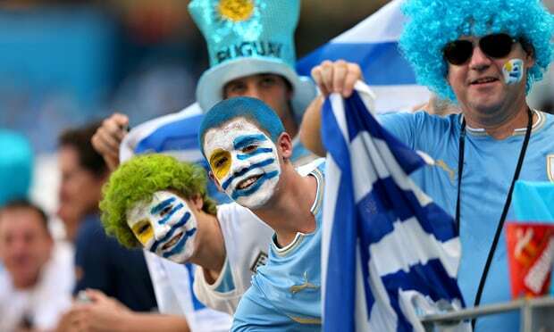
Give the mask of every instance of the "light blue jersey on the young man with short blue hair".
<path id="1" fill-rule="evenodd" d="M 321 221 L 323 215 L 324 163 L 310 174 L 317 179 L 317 194 L 311 212 L 315 231 L 297 234 L 279 248 L 275 237 L 267 264 L 252 277 L 252 286 L 242 296 L 232 331 L 321 330 Z"/>

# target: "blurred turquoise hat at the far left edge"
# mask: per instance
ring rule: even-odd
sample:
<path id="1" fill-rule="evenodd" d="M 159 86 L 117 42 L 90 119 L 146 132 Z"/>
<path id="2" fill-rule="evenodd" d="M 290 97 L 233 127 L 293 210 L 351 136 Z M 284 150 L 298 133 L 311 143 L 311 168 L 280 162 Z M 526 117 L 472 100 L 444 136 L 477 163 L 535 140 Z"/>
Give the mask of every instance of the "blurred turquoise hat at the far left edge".
<path id="1" fill-rule="evenodd" d="M 27 198 L 33 170 L 33 153 L 27 138 L 0 129 L 0 207 Z"/>

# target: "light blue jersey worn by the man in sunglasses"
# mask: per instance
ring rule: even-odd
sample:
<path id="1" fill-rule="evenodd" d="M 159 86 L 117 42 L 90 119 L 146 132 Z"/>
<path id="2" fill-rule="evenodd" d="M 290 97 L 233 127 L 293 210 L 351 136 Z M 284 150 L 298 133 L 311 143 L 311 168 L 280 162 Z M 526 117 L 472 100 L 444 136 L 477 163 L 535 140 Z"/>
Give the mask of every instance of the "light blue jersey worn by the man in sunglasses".
<path id="1" fill-rule="evenodd" d="M 552 181 L 554 174 L 550 170 L 554 166 L 554 117 L 544 112 L 535 114 L 539 120 L 533 123 L 519 178 Z M 429 154 L 435 160 L 434 166 L 417 170 L 411 178 L 435 203 L 454 216 L 461 115 L 441 118 L 425 112 L 416 112 L 387 114 L 380 119 L 383 126 L 401 141 L 413 149 Z M 458 284 L 467 306 L 473 306 L 479 279 L 506 202 L 524 137 L 525 129 L 516 129 L 513 136 L 497 140 L 483 130 L 466 128 L 460 213 L 462 258 L 458 270 Z M 510 209 L 507 220 L 513 219 L 514 213 Z M 484 286 L 481 303 L 502 303 L 509 300 L 506 236 L 502 234 Z M 515 311 L 479 319 L 476 330 L 517 331 L 518 313 Z"/>

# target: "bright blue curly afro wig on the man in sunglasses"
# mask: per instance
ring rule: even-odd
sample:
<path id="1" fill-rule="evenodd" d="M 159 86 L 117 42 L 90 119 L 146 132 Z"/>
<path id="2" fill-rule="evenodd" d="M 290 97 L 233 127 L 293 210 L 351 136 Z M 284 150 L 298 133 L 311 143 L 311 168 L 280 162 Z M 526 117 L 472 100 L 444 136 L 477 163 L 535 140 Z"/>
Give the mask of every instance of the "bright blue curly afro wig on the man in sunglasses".
<path id="1" fill-rule="evenodd" d="M 554 20 L 540 0 L 408 0 L 408 21 L 400 48 L 416 71 L 419 84 L 456 101 L 446 79 L 442 49 L 460 36 L 505 32 L 533 46 L 535 64 L 527 72 L 527 92 L 550 64 Z"/>

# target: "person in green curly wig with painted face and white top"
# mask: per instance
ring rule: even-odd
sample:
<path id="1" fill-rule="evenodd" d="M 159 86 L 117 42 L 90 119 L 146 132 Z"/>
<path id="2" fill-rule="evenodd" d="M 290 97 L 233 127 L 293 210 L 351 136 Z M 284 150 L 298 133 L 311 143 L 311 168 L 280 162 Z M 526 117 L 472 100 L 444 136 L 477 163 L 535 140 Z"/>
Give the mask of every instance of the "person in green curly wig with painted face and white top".
<path id="1" fill-rule="evenodd" d="M 100 209 L 105 231 L 122 245 L 201 267 L 195 278 L 211 285 L 206 289 L 195 282 L 195 293 L 209 307 L 231 314 L 250 286 L 256 270 L 252 262 L 266 255 L 272 233 L 238 204 L 216 207 L 206 195 L 206 172 L 200 166 L 163 154 L 124 162 L 109 178 Z M 213 301 L 209 291 L 225 301 Z"/>

